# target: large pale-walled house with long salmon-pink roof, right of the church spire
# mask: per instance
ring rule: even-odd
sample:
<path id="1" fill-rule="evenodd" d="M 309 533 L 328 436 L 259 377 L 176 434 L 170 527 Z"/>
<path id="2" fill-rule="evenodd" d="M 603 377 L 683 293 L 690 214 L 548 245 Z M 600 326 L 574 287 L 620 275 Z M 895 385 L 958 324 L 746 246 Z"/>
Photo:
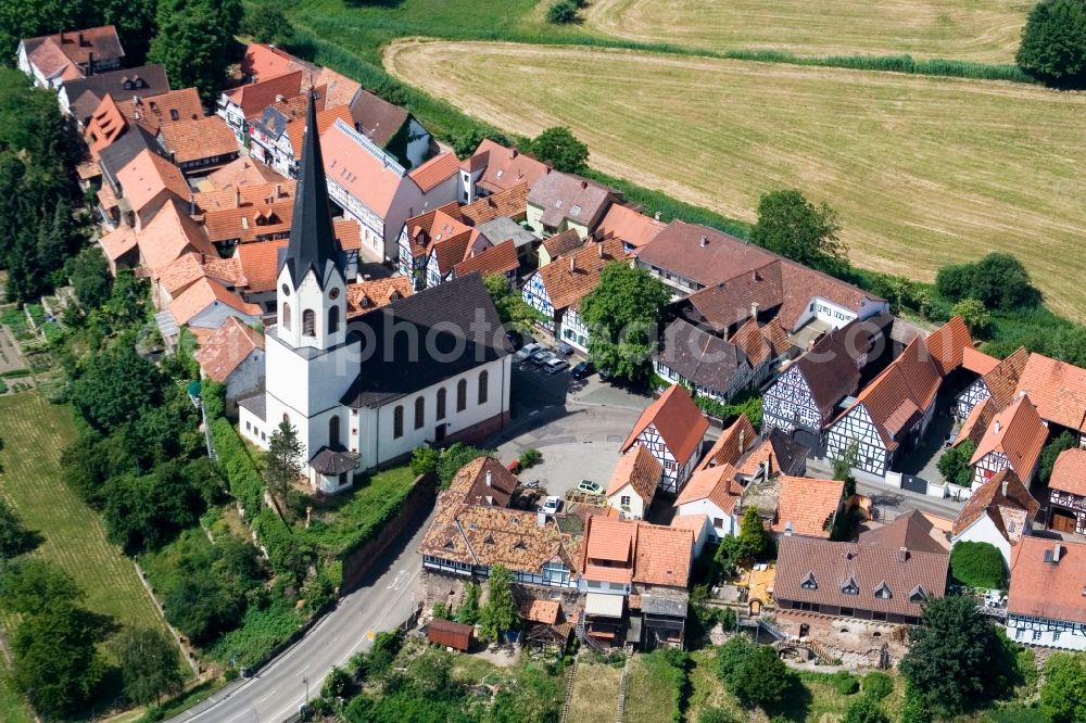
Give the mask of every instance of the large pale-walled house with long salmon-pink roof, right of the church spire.
<path id="1" fill-rule="evenodd" d="M 366 258 L 395 259 L 407 219 L 454 200 L 453 185 L 431 178 L 428 172 L 408 174 L 394 157 L 342 120 L 324 132 L 321 145 L 328 195 L 362 226 Z M 425 181 L 425 189 L 416 176 Z"/>

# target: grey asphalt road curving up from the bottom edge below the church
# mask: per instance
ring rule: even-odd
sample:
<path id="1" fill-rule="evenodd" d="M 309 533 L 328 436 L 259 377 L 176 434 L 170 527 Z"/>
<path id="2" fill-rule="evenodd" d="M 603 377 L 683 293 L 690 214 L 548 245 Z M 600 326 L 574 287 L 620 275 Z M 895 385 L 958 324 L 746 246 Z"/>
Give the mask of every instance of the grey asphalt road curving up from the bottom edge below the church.
<path id="1" fill-rule="evenodd" d="M 368 649 L 376 633 L 395 629 L 411 614 L 422 567 L 417 549 L 429 522 L 421 515 L 412 520 L 362 586 L 256 676 L 231 683 L 171 721 L 280 723 L 298 713 L 304 678 L 312 700 L 333 665 Z"/>

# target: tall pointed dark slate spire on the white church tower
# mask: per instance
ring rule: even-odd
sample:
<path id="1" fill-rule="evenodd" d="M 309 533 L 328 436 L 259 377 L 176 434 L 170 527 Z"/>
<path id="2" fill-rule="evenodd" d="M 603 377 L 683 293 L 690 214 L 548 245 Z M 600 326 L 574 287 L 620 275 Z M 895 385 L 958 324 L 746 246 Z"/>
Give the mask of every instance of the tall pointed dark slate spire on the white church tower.
<path id="1" fill-rule="evenodd" d="M 328 183 L 325 180 L 325 163 L 317 135 L 316 97 L 316 92 L 310 92 L 305 140 L 302 143 L 302 167 L 294 189 L 290 243 L 279 270 L 286 266 L 296 287 L 312 268 L 316 274 L 317 284 L 324 289 L 331 270 L 339 267 L 339 253 L 332 232 Z"/>

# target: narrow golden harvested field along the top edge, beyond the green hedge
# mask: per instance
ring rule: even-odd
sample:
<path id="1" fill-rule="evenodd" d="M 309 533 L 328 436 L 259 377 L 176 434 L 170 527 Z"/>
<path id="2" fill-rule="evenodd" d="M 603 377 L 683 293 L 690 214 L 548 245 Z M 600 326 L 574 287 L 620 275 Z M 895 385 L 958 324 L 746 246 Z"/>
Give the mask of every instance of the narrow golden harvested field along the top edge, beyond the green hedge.
<path id="1" fill-rule="evenodd" d="M 1028 0 L 595 0 L 586 27 L 641 42 L 1012 63 Z"/>

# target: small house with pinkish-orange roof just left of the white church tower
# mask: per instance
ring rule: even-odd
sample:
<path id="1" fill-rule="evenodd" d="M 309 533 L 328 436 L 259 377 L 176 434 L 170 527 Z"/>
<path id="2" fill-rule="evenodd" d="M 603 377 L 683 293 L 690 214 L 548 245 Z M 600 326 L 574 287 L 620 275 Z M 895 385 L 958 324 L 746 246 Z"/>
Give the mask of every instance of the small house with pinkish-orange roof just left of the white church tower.
<path id="1" fill-rule="evenodd" d="M 264 334 L 231 316 L 197 350 L 193 358 L 204 379 L 222 383 L 226 408 L 237 414 L 238 399 L 264 388 Z"/>

